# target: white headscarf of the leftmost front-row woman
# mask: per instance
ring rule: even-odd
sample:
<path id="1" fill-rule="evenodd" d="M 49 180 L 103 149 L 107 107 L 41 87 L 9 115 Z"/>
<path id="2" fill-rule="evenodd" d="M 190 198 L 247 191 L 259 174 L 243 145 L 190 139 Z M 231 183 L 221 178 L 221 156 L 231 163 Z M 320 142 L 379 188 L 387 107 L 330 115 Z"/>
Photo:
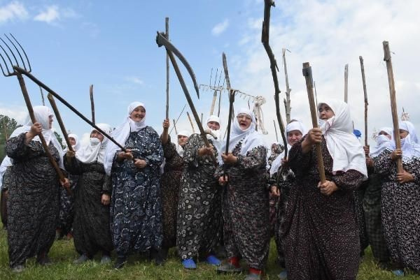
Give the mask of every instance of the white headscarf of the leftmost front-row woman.
<path id="1" fill-rule="evenodd" d="M 57 140 L 57 137 L 55 137 L 53 129 L 50 128 L 50 116 L 53 116 L 53 115 L 54 113 L 50 110 L 50 108 L 46 106 L 43 106 L 43 105 L 34 106 L 34 116 L 35 116 L 36 121 L 42 126 L 41 133 L 43 137 L 45 138 L 45 142 L 47 142 L 47 145 L 49 145 L 50 142 L 52 142 L 52 145 L 54 145 L 54 147 L 57 149 L 58 154 L 59 154 L 58 165 L 60 168 L 64 169 L 64 165 L 62 161 L 64 152 L 62 149 L 62 145 Z M 15 131 L 13 131 L 12 135 L 10 135 L 10 138 L 17 137 L 22 133 L 27 133 L 28 131 L 31 130 L 31 126 L 32 126 L 32 121 L 28 115 L 25 126 L 20 126 L 16 128 Z M 34 139 L 32 140 L 41 142 L 41 139 L 39 139 L 38 135 L 35 136 Z M 13 163 L 13 160 L 12 160 L 12 163 Z"/>

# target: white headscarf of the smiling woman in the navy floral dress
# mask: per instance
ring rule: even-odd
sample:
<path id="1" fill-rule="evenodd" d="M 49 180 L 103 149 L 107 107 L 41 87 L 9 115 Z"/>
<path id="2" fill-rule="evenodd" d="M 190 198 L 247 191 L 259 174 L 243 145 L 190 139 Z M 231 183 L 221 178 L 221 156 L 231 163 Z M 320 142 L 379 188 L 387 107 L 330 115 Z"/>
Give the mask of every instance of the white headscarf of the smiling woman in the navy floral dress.
<path id="1" fill-rule="evenodd" d="M 144 118 L 141 119 L 141 121 L 133 121 L 130 118 L 130 114 L 134 111 L 134 109 L 136 109 L 139 106 L 143 107 L 144 110 L 146 110 L 146 106 L 144 105 L 144 103 L 138 101 L 134 101 L 130 103 L 130 105 L 128 105 L 127 117 L 125 117 L 123 124 L 118 126 L 118 128 L 116 128 L 116 130 L 113 131 L 111 135 L 114 138 L 114 140 L 120 143 L 121 146 L 125 145 L 125 141 L 127 141 L 131 132 L 140 131 L 141 129 L 146 127 L 146 116 L 144 116 Z M 109 145 L 107 145 L 106 147 L 104 168 L 107 175 L 111 175 L 113 157 L 115 156 L 118 149 L 120 148 L 113 142 L 110 142 Z"/>

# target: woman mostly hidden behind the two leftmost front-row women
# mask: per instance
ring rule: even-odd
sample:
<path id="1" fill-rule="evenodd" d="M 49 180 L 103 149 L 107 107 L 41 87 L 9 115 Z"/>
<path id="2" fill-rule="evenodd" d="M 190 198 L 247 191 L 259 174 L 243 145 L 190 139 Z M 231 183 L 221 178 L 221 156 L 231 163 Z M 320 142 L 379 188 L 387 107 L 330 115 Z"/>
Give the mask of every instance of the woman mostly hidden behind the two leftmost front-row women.
<path id="1" fill-rule="evenodd" d="M 69 142 L 73 151 L 77 152 L 80 148 L 80 142 L 76 134 L 69 134 Z M 78 182 L 78 175 L 69 175 L 69 180 L 72 191 L 76 190 Z M 65 189 L 61 189 L 59 192 L 59 214 L 58 214 L 58 226 L 55 233 L 55 238 L 60 239 L 63 236 L 67 238 L 73 237 L 73 219 L 74 219 L 74 196 L 69 194 Z"/>

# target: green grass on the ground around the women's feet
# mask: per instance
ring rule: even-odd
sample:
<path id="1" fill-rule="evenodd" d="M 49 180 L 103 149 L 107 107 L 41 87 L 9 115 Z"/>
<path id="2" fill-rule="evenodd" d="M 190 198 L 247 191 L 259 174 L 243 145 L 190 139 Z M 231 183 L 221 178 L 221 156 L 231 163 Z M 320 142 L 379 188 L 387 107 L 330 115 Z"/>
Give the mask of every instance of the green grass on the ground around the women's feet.
<path id="1" fill-rule="evenodd" d="M 409 275 L 407 277 L 395 277 L 391 272 L 379 270 L 374 265 L 372 253 L 367 250 L 365 260 L 360 265 L 358 280 L 376 279 L 420 279 L 419 276 Z M 8 267 L 8 253 L 6 231 L 0 230 L 0 279 L 59 279 L 59 280 L 218 280 L 218 279 L 244 279 L 244 274 L 220 275 L 216 274 L 214 267 L 204 263 L 197 264 L 197 270 L 187 271 L 181 266 L 174 251 L 169 252 L 170 258 L 163 267 L 157 267 L 144 258 L 132 256 L 123 270 L 113 270 L 112 265 L 100 265 L 99 257 L 83 265 L 73 265 L 77 258 L 74 251 L 73 240 L 60 240 L 55 242 L 50 251 L 50 259 L 53 264 L 48 267 L 41 267 L 35 264 L 34 258 L 28 261 L 27 269 L 20 274 L 14 274 Z M 274 242 L 270 247 L 269 262 L 266 279 L 278 279 L 276 277 L 281 270 L 276 267 L 276 250 Z"/>

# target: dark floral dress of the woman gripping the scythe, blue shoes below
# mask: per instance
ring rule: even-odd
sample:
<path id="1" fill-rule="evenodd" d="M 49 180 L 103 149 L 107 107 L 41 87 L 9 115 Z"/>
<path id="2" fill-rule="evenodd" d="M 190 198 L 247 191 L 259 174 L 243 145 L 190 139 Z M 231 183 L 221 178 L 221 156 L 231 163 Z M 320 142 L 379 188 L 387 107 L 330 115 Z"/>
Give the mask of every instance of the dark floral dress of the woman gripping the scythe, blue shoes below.
<path id="1" fill-rule="evenodd" d="M 211 142 L 211 140 L 209 140 Z M 210 156 L 198 156 L 204 141 L 193 134 L 184 147 L 186 164 L 179 191 L 176 246 L 182 260 L 205 257 L 221 234 L 221 187 L 214 178 L 216 163 Z M 217 150 L 214 149 L 217 159 Z"/>

